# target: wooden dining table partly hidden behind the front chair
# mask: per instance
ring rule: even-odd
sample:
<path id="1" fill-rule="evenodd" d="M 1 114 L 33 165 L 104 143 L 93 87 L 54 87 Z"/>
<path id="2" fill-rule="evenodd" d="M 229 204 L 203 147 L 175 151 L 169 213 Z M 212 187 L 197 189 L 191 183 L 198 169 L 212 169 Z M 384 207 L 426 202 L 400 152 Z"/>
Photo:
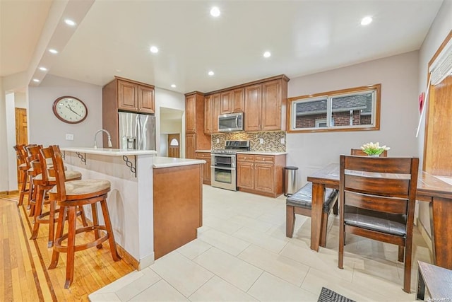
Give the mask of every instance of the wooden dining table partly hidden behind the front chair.
<path id="1" fill-rule="evenodd" d="M 311 250 L 319 251 L 325 188 L 339 189 L 339 163 L 331 163 L 307 177 L 312 182 Z M 434 264 L 452 269 L 452 185 L 420 170 L 416 199 L 429 202 Z"/>

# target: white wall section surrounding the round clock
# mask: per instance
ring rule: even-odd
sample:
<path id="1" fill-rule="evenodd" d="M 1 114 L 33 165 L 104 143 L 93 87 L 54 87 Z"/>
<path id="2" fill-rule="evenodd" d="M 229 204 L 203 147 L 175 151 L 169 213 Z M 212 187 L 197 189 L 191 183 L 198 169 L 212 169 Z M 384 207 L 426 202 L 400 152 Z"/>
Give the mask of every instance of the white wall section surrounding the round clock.
<path id="1" fill-rule="evenodd" d="M 86 120 L 67 124 L 54 115 L 54 100 L 64 95 L 83 100 L 88 108 Z M 91 147 L 95 132 L 102 129 L 101 86 L 47 75 L 40 86 L 29 88 L 28 108 L 29 144 Z M 73 141 L 66 140 L 66 134 L 73 134 Z"/>

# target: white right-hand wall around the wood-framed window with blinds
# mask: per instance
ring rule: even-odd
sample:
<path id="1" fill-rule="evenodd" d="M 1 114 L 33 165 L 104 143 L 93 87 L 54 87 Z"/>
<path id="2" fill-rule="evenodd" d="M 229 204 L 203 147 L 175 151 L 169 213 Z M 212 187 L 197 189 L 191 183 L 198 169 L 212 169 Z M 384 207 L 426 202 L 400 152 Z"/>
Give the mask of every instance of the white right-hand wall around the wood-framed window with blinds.
<path id="1" fill-rule="evenodd" d="M 434 23 L 430 27 L 429 33 L 422 43 L 420 49 L 419 57 L 419 73 L 418 76 L 418 89 L 417 94 L 419 95 L 422 91 L 427 89 L 427 72 L 429 61 L 432 59 L 436 50 L 439 49 L 441 43 L 446 39 L 448 33 L 452 30 L 452 1 L 444 1 L 441 8 L 439 8 L 438 15 L 436 16 Z M 452 103 L 448 103 L 451 106 Z M 424 127 L 425 119 L 422 120 L 422 125 L 420 127 L 419 139 L 417 139 L 417 149 L 422 155 L 424 151 Z M 422 161 L 421 157 L 421 161 Z M 422 163 L 420 163 L 422 165 Z M 430 231 L 430 218 L 429 218 L 429 207 L 426 202 L 420 202 L 419 207 L 419 219 L 422 226 L 426 231 L 431 234 Z"/>

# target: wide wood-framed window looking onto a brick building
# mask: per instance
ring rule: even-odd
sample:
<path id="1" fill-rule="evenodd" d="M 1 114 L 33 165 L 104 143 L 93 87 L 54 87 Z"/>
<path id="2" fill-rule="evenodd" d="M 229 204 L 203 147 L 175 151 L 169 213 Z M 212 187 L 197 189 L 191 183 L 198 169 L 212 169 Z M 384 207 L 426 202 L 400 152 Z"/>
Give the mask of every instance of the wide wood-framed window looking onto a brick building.
<path id="1" fill-rule="evenodd" d="M 380 129 L 381 84 L 289 98 L 289 132 Z"/>

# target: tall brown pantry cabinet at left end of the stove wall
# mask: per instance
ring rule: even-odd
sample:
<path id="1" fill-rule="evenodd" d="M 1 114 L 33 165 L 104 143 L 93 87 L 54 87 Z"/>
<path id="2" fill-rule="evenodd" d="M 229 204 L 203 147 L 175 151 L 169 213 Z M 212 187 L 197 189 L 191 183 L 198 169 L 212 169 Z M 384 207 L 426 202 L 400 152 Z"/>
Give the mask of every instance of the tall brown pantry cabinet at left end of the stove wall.
<path id="1" fill-rule="evenodd" d="M 210 149 L 210 136 L 204 133 L 204 94 L 185 95 L 185 158 L 196 158 L 196 150 Z"/>

